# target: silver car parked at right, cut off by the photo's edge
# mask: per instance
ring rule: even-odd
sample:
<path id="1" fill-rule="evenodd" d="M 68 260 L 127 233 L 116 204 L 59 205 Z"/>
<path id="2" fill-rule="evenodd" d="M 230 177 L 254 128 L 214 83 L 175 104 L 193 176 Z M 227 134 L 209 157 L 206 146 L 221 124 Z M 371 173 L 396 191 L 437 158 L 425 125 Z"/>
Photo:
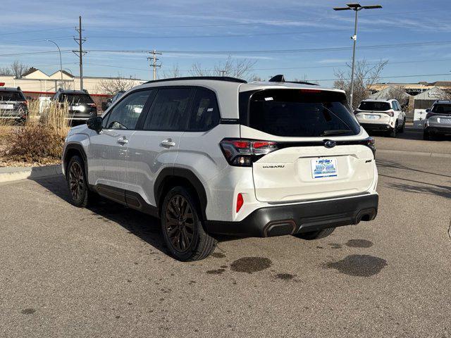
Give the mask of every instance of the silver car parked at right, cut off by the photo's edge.
<path id="1" fill-rule="evenodd" d="M 435 101 L 431 109 L 426 109 L 423 138 L 435 139 L 439 134 L 451 135 L 451 101 Z"/>

